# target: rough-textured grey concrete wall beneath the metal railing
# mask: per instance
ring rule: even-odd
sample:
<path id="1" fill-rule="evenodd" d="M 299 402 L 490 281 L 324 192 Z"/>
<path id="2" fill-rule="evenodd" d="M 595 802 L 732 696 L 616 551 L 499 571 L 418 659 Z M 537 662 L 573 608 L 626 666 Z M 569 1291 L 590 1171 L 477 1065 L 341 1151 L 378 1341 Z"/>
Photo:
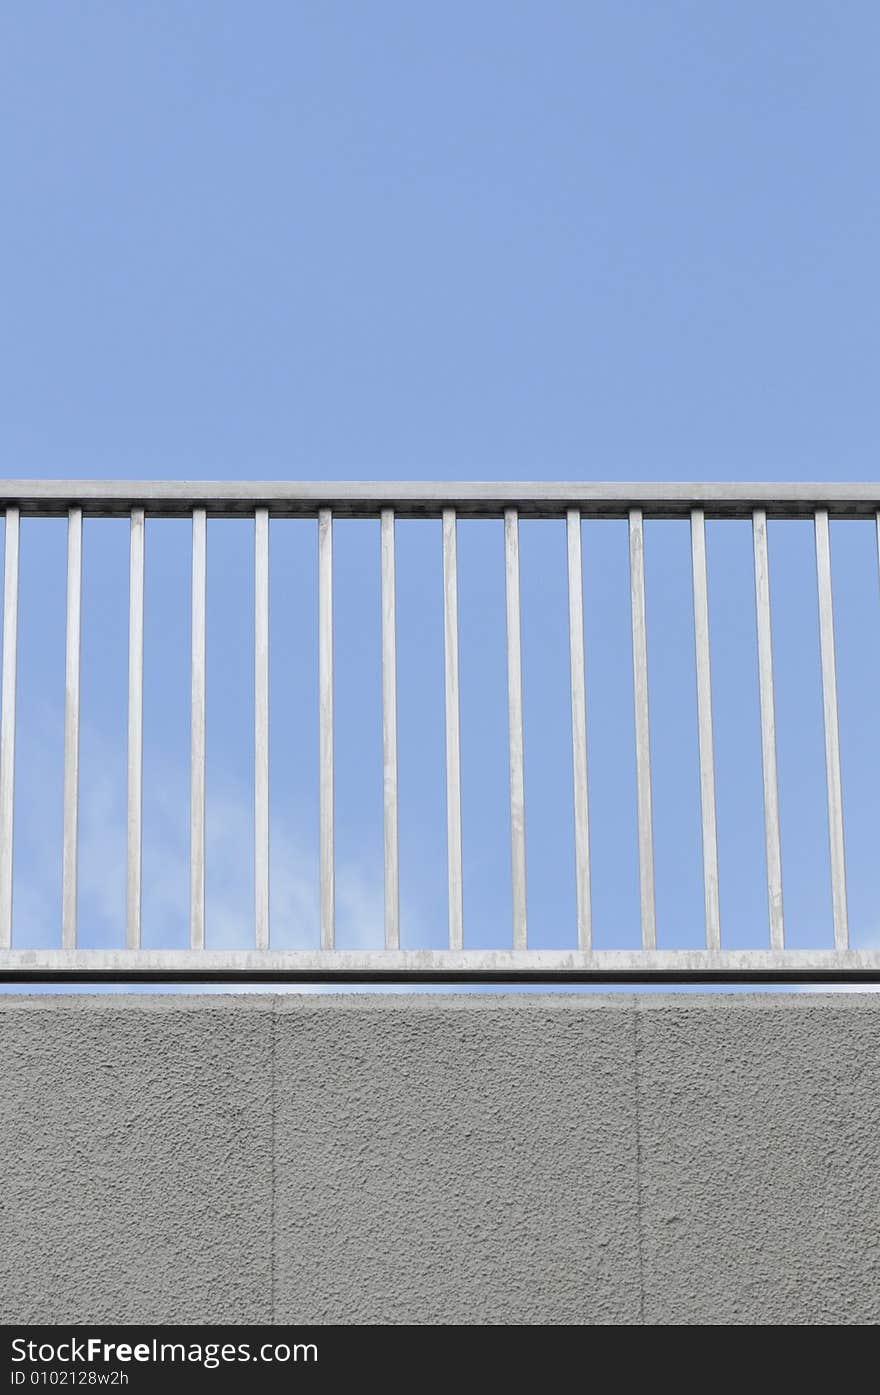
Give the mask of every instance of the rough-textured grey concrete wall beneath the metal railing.
<path id="1" fill-rule="evenodd" d="M 7 1322 L 880 1318 L 880 995 L 0 1000 Z"/>

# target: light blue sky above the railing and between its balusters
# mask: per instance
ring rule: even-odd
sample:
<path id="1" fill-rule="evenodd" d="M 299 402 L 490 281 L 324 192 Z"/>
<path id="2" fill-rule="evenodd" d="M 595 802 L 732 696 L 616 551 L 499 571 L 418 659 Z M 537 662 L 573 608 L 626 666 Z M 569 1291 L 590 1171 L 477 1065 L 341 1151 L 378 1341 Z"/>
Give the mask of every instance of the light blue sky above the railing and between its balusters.
<path id="1" fill-rule="evenodd" d="M 877 474 L 874 54 L 830 3 L 0 15 L 15 477 Z M 626 537 L 586 523 L 595 942 L 637 944 Z M 315 527 L 272 525 L 272 911 L 317 935 Z M 209 527 L 208 940 L 252 896 L 252 525 Z M 647 525 L 658 937 L 700 943 L 686 525 Z M 148 527 L 145 943 L 185 943 L 188 530 Z M 466 943 L 509 943 L 499 523 L 460 527 Z M 830 944 L 812 533 L 771 525 L 787 932 Z M 724 943 L 767 942 L 750 538 L 708 529 Z M 877 543 L 833 526 L 849 910 L 880 932 Z M 438 523 L 397 529 L 403 942 L 445 932 Z M 530 932 L 575 943 L 563 530 L 522 529 Z M 15 943 L 60 921 L 64 525 L 22 526 Z M 378 523 L 336 527 L 339 942 L 381 940 Z M 82 943 L 124 935 L 127 530 L 85 529 Z M 57 868 L 57 875 L 53 869 Z"/>

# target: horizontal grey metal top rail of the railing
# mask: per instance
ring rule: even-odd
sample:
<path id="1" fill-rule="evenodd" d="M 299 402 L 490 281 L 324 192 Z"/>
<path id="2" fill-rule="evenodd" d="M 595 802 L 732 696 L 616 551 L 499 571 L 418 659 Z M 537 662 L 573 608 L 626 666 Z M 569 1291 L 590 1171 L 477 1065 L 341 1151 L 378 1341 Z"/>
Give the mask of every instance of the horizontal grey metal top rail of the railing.
<path id="1" fill-rule="evenodd" d="M 22 515 L 64 515 L 82 508 L 95 516 L 144 509 L 149 516 L 185 518 L 194 508 L 234 518 L 265 508 L 276 518 L 374 518 L 392 508 L 399 518 L 438 518 L 455 509 L 467 518 L 501 518 L 516 508 L 523 516 L 625 518 L 642 509 L 651 518 L 745 518 L 764 509 L 768 518 L 809 518 L 827 509 L 833 518 L 869 518 L 880 509 L 880 481 L 869 483 L 661 483 L 661 481 L 328 481 L 328 480 L 0 480 L 0 509 Z"/>

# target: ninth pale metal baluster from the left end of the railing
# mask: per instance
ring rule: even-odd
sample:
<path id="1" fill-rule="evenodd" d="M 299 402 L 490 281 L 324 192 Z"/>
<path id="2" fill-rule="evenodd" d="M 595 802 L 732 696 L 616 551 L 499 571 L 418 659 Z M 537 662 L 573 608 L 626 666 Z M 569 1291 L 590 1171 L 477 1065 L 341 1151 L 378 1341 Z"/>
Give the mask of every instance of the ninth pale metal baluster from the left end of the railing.
<path id="1" fill-rule="evenodd" d="M 526 919 L 526 792 L 523 776 L 523 663 L 519 597 L 519 515 L 505 509 L 505 579 L 508 607 L 508 737 L 510 764 L 510 866 L 513 880 L 513 949 L 529 943 Z"/>

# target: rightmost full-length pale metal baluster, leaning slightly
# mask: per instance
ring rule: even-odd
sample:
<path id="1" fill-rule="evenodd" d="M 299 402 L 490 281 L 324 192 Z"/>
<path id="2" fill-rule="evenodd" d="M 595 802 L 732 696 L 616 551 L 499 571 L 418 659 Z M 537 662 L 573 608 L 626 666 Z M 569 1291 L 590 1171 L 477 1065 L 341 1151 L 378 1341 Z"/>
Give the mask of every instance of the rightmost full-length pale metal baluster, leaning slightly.
<path id="1" fill-rule="evenodd" d="M 831 905 L 834 949 L 849 947 L 847 918 L 847 858 L 844 848 L 844 792 L 837 718 L 837 664 L 834 661 L 834 605 L 831 600 L 831 538 L 828 511 L 816 511 L 816 582 L 819 587 L 819 640 L 821 649 L 821 706 L 826 728 L 826 783 L 828 790 L 828 844 L 831 852 Z"/>

